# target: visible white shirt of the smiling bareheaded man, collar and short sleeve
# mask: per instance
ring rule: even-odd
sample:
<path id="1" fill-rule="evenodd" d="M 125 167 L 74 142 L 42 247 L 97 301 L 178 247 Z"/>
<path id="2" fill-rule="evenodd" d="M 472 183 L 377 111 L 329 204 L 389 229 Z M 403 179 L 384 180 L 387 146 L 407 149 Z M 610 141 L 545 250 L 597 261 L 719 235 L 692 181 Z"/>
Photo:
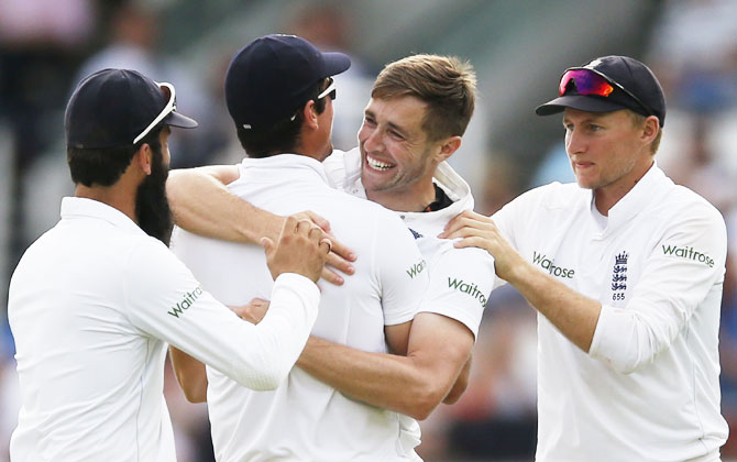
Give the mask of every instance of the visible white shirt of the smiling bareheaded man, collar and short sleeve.
<path id="1" fill-rule="evenodd" d="M 334 187 L 366 198 L 358 147 L 349 152 L 333 151 L 322 165 Z M 475 338 L 486 298 L 496 280 L 494 258 L 484 250 L 455 249 L 452 241 L 437 238 L 457 215 L 473 210 L 474 202 L 471 188 L 448 163 L 438 166 L 433 180 L 453 204 L 437 211 L 396 212 L 413 230 L 430 270 L 430 289 L 420 311 L 455 319 Z"/>

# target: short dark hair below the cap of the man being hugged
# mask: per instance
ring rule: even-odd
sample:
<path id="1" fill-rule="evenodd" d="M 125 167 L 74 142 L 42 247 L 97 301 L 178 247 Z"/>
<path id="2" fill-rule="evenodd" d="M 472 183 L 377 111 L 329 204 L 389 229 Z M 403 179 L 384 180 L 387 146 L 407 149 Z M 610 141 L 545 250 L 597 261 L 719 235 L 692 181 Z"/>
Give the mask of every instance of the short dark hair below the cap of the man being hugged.
<path id="1" fill-rule="evenodd" d="M 275 154 L 294 152 L 299 145 L 299 132 L 305 122 L 302 113 L 305 105 L 311 100 L 315 101 L 315 110 L 318 114 L 324 111 L 327 105 L 326 98 L 329 97 L 326 96 L 324 98 L 317 99 L 324 84 L 326 79 L 320 79 L 315 85 L 315 89 L 310 92 L 309 98 L 295 110 L 294 120 L 286 118 L 266 128 L 244 129 L 243 127 L 237 127 L 235 134 L 238 135 L 238 141 L 241 142 L 241 146 L 245 150 L 245 154 L 249 157 L 262 158 Z"/>

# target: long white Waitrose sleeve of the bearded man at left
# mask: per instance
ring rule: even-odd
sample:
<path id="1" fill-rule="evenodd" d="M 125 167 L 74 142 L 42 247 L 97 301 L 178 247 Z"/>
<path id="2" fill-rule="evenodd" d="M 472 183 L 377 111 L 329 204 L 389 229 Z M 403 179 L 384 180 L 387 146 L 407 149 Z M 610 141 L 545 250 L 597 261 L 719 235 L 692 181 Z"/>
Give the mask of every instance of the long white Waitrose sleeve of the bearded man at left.
<path id="1" fill-rule="evenodd" d="M 317 286 L 297 274 L 277 277 L 257 324 L 241 320 L 202 290 L 163 244 L 131 252 L 125 284 L 131 322 L 253 389 L 273 389 L 301 353 L 318 312 Z"/>

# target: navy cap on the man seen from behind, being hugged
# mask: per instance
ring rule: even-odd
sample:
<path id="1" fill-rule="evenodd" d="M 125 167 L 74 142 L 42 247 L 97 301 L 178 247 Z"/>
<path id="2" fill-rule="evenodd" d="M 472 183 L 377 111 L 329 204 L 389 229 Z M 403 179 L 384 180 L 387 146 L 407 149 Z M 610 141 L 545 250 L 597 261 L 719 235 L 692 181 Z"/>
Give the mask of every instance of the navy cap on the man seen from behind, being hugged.
<path id="1" fill-rule="evenodd" d="M 321 53 L 295 35 L 256 38 L 238 52 L 226 75 L 226 103 L 239 128 L 272 125 L 307 102 L 320 79 L 351 67 L 342 53 Z"/>

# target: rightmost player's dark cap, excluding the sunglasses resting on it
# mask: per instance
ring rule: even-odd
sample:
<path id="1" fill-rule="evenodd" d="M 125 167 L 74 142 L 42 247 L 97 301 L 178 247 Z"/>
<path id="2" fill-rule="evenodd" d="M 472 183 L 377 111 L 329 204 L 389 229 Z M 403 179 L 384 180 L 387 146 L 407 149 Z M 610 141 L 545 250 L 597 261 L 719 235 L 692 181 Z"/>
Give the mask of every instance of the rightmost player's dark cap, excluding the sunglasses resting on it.
<path id="1" fill-rule="evenodd" d="M 656 116 L 660 121 L 660 127 L 666 123 L 663 90 L 652 70 L 639 61 L 628 56 L 604 56 L 584 66 L 571 67 L 565 72 L 573 69 L 591 69 L 600 74 L 615 84 L 613 85 L 614 91 L 607 97 L 580 95 L 575 86 L 569 84 L 565 95 L 539 106 L 535 109 L 535 113 L 550 116 L 562 112 L 565 108 L 588 112 L 630 109 L 642 116 Z M 619 88 L 617 84 L 625 90 Z"/>

